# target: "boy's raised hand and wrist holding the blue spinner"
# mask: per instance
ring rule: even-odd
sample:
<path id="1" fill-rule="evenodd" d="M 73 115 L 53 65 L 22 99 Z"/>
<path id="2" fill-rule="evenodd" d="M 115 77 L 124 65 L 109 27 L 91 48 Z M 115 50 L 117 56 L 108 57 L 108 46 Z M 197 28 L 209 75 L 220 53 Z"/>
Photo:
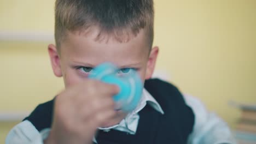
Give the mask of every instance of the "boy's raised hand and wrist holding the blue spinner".
<path id="1" fill-rule="evenodd" d="M 98 127 L 115 114 L 112 96 L 118 87 L 86 80 L 66 88 L 54 104 L 53 125 L 45 143 L 92 143 Z"/>

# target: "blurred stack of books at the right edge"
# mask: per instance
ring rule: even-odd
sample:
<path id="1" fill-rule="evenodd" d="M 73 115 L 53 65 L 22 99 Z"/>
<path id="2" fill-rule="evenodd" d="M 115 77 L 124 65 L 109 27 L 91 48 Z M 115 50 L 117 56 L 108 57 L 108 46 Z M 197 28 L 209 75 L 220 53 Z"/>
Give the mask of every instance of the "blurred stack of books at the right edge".
<path id="1" fill-rule="evenodd" d="M 235 104 L 241 110 L 234 134 L 241 144 L 256 144 L 256 104 Z"/>

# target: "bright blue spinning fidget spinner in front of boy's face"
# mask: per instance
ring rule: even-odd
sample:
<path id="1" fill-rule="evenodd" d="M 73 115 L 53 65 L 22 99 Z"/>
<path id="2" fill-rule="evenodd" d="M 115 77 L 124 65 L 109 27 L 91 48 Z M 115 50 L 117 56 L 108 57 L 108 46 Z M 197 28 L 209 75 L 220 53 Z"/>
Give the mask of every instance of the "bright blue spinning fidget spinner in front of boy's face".
<path id="1" fill-rule="evenodd" d="M 118 68 L 111 63 L 102 63 L 95 67 L 89 75 L 90 79 L 97 79 L 102 82 L 119 86 L 119 93 L 114 95 L 117 110 L 129 112 L 135 109 L 142 95 L 142 82 L 135 70 L 129 74 L 118 75 Z"/>

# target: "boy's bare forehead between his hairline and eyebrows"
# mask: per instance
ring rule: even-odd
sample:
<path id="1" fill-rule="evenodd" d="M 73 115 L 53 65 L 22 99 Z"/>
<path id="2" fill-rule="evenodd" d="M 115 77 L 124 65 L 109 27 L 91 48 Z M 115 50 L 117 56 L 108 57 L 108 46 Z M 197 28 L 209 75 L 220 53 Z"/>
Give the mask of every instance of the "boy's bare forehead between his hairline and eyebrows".
<path id="1" fill-rule="evenodd" d="M 137 35 L 131 35 L 127 41 L 118 41 L 111 33 L 102 33 L 101 39 L 97 39 L 99 33 L 98 29 L 67 32 L 61 51 L 65 52 L 66 57 L 96 65 L 110 61 L 122 65 L 139 63 L 148 56 L 149 49 L 143 29 Z"/>

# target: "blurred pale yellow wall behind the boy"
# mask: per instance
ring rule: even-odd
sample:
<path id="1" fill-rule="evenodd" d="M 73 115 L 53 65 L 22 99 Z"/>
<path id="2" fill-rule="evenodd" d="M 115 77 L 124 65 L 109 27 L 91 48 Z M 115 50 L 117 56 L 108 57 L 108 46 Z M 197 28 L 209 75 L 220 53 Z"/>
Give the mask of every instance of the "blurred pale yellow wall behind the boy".
<path id="1" fill-rule="evenodd" d="M 235 129 L 256 105 L 256 1 L 155 1 L 156 75 L 199 98 Z M 63 89 L 51 70 L 53 0 L 0 0 L 0 143 L 34 107 Z"/>

